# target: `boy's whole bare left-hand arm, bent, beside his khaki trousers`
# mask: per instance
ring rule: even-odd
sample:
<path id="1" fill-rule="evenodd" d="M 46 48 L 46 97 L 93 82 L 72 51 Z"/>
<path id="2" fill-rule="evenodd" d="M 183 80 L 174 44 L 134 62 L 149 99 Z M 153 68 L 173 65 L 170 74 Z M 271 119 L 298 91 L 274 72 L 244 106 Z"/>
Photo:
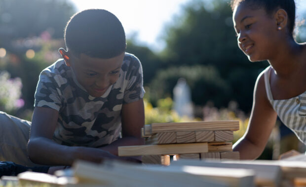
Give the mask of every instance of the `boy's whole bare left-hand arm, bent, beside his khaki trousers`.
<path id="1" fill-rule="evenodd" d="M 71 165 L 76 159 L 101 162 L 105 157 L 115 157 L 96 148 L 70 147 L 56 143 L 52 136 L 57 120 L 57 110 L 35 107 L 28 143 L 28 154 L 33 162 L 43 165 Z"/>

